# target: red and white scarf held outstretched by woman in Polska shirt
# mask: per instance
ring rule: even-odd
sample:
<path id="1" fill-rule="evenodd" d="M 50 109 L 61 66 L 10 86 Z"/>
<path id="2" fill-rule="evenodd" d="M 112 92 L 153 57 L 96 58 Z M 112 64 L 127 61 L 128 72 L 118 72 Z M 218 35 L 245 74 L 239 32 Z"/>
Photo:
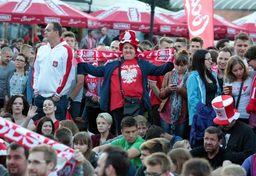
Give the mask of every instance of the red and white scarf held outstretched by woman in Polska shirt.
<path id="1" fill-rule="evenodd" d="M 78 63 L 103 61 L 108 59 L 116 59 L 123 57 L 121 52 L 98 51 L 98 50 L 77 50 L 78 58 L 73 58 L 72 64 L 75 66 Z M 145 60 L 156 60 L 162 62 L 174 62 L 174 49 L 154 50 L 136 53 L 135 57 Z"/>

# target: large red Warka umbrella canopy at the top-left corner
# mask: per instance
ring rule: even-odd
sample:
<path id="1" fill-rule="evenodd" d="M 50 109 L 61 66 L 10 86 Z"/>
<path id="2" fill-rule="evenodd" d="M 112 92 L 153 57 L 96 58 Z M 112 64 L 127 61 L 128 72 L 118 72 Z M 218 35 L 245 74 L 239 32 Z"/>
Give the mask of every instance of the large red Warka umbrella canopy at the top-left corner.
<path id="1" fill-rule="evenodd" d="M 97 28 L 98 20 L 59 0 L 2 0 L 0 21 L 47 25 L 51 21 L 62 26 Z"/>

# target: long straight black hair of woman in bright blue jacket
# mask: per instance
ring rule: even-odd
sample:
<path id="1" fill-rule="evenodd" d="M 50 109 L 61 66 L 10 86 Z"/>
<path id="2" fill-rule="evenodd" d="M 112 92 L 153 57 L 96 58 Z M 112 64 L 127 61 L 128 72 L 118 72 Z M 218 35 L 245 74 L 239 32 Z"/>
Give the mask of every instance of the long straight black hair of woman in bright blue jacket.
<path id="1" fill-rule="evenodd" d="M 190 72 L 195 70 L 198 71 L 199 76 L 202 79 L 206 89 L 209 88 L 209 82 L 206 80 L 205 74 L 209 79 L 212 80 L 214 84 L 217 83 L 216 79 L 212 75 L 212 70 L 208 70 L 205 66 L 205 55 L 207 53 L 209 53 L 209 51 L 205 49 L 196 50 L 193 56 L 192 67 L 190 70 Z"/>

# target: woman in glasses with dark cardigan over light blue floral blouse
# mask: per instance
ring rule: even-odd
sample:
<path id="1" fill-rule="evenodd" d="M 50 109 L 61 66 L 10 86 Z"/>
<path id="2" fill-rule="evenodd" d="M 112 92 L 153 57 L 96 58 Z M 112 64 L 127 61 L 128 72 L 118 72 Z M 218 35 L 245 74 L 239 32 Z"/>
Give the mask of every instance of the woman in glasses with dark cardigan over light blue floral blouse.
<path id="1" fill-rule="evenodd" d="M 23 53 L 18 53 L 15 59 L 16 69 L 9 71 L 5 77 L 4 95 L 5 101 L 11 95 L 22 94 L 27 95 L 28 71 L 26 71 L 28 58 Z"/>

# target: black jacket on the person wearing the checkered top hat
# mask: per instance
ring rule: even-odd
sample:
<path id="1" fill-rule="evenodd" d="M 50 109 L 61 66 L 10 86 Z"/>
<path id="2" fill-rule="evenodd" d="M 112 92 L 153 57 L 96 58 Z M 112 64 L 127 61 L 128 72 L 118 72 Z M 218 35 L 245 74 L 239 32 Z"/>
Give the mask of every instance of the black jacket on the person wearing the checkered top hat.
<path id="1" fill-rule="evenodd" d="M 222 131 L 222 145 L 229 149 L 233 154 L 233 163 L 242 165 L 244 160 L 254 154 L 254 133 L 252 129 L 245 123 L 236 120 L 228 143 L 226 143 L 226 131 L 219 126 Z"/>

